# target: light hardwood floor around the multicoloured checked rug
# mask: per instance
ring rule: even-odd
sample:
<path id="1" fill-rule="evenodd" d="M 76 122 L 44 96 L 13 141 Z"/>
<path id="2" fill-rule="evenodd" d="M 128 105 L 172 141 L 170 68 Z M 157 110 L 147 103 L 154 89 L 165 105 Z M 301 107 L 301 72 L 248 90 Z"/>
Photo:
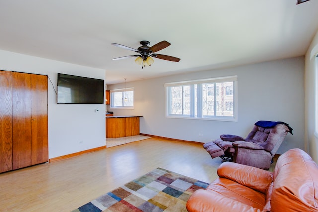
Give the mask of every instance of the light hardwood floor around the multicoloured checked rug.
<path id="1" fill-rule="evenodd" d="M 221 163 L 202 144 L 136 141 L 0 174 L 0 211 L 69 212 L 157 167 L 211 182 Z"/>

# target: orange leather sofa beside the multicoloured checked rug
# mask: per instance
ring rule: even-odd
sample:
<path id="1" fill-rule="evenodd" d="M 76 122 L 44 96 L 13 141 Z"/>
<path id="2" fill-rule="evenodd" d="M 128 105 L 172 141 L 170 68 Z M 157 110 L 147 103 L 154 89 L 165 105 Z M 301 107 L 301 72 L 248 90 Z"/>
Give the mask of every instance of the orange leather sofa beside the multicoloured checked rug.
<path id="1" fill-rule="evenodd" d="M 274 172 L 224 162 L 205 190 L 196 190 L 189 212 L 318 212 L 318 166 L 301 149 L 282 154 Z"/>

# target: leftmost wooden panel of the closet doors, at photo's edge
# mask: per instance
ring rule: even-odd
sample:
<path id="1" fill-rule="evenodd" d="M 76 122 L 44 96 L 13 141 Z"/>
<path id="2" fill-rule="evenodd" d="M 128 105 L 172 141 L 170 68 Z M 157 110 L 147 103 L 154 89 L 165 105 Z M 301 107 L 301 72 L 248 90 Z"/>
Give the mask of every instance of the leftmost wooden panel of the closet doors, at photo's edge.
<path id="1" fill-rule="evenodd" d="M 0 71 L 0 173 L 12 170 L 12 72 Z"/>

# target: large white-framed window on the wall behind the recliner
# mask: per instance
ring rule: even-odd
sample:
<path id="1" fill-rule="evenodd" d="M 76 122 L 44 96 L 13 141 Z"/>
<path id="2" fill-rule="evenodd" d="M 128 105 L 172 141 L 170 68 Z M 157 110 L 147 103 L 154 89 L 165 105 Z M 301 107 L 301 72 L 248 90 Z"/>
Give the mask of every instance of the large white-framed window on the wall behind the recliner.
<path id="1" fill-rule="evenodd" d="M 237 121 L 237 76 L 166 83 L 166 116 Z"/>

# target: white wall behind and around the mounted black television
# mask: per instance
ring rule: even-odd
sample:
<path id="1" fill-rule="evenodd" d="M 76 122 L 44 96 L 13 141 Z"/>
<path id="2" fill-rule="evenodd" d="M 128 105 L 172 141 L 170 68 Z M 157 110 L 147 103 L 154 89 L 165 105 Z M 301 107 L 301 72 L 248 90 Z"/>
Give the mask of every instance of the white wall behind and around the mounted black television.
<path id="1" fill-rule="evenodd" d="M 102 69 L 3 50 L 0 50 L 0 70 L 48 75 L 55 90 L 57 73 L 105 79 Z M 53 86 L 48 80 L 49 158 L 105 146 L 105 105 L 57 104 Z"/>

